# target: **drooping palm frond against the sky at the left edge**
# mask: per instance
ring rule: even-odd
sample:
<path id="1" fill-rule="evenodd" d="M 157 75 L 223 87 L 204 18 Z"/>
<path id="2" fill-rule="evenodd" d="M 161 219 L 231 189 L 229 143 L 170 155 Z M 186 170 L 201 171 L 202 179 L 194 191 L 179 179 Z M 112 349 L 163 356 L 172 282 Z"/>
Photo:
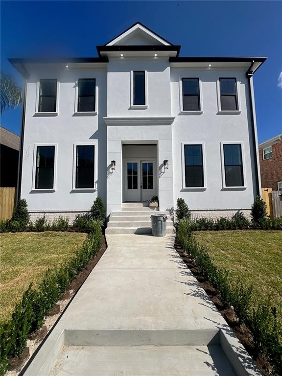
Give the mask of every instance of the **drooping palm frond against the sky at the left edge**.
<path id="1" fill-rule="evenodd" d="M 0 77 L 0 113 L 4 110 L 17 107 L 23 99 L 22 90 L 10 74 L 1 71 Z"/>

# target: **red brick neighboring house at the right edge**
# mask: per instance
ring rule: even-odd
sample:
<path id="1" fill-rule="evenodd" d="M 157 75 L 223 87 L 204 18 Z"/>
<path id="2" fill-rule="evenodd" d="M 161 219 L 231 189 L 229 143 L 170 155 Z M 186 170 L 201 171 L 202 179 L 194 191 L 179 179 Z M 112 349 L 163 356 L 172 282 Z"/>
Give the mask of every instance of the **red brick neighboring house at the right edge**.
<path id="1" fill-rule="evenodd" d="M 262 188 L 282 189 L 282 134 L 258 145 Z"/>

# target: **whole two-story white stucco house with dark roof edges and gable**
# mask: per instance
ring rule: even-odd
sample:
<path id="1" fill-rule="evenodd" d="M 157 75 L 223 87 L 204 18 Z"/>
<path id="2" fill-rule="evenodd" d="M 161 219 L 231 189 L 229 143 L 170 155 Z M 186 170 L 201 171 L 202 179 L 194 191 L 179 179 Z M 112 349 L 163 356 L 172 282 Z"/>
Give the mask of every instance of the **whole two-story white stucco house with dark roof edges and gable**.
<path id="1" fill-rule="evenodd" d="M 25 78 L 19 195 L 32 218 L 182 197 L 248 213 L 260 192 L 253 74 L 264 57 L 180 57 L 141 23 L 98 57 L 10 59 Z M 125 205 L 124 205 L 125 204 Z"/>

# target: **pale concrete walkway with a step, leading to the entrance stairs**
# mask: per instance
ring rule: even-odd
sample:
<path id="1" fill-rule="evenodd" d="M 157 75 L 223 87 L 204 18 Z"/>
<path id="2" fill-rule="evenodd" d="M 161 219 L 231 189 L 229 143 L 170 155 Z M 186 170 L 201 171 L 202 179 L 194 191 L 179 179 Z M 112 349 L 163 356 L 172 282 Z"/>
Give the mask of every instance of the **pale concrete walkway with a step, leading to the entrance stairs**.
<path id="1" fill-rule="evenodd" d="M 107 235 L 107 243 L 26 376 L 260 375 L 174 235 Z"/>

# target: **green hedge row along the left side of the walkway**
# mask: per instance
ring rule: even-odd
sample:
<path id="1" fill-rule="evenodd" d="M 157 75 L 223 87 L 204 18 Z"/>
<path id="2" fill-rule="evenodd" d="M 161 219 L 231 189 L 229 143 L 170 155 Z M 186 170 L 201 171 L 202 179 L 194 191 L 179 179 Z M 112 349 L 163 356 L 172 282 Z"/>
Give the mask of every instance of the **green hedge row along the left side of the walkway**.
<path id="1" fill-rule="evenodd" d="M 81 248 L 76 250 L 75 257 L 59 269 L 49 268 L 37 288 L 30 285 L 24 292 L 23 299 L 16 305 L 11 320 L 0 324 L 0 376 L 3 376 L 7 370 L 8 359 L 21 355 L 29 334 L 42 326 L 60 295 L 74 277 L 86 267 L 101 244 L 100 223 L 94 222 L 92 232 Z"/>

